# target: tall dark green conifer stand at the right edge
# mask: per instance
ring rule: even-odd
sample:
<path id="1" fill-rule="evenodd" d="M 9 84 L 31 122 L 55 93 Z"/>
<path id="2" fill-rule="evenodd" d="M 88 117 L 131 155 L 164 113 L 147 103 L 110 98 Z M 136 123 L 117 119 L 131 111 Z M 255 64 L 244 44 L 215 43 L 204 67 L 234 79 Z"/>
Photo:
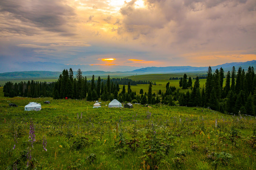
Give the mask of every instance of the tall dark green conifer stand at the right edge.
<path id="1" fill-rule="evenodd" d="M 185 76 L 185 75 L 184 75 Z M 228 113 L 256 115 L 256 75 L 253 67 L 247 72 L 241 67 L 228 71 L 224 86 L 224 70 L 212 73 L 208 68 L 205 87 L 200 88 L 196 77 L 191 92 L 176 95 L 182 106 L 199 106 Z M 183 83 L 186 84 L 185 81 Z M 184 87 L 184 86 L 183 86 Z"/>

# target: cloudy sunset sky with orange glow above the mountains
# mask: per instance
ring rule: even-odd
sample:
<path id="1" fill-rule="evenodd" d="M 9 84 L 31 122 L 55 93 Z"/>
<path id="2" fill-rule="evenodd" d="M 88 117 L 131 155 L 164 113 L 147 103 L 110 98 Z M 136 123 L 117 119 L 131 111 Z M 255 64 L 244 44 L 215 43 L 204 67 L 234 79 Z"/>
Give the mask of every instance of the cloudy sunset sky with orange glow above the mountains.
<path id="1" fill-rule="evenodd" d="M 111 71 L 253 59 L 256 0 L 0 0 L 4 68 L 53 62 Z"/>

